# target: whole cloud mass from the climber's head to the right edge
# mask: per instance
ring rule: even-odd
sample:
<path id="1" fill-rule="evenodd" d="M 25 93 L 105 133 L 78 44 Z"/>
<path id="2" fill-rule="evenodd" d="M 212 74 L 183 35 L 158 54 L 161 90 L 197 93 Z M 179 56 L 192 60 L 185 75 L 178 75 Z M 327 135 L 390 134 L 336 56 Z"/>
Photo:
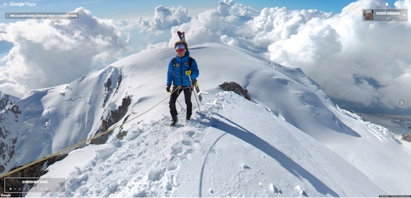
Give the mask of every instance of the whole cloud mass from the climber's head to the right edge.
<path id="1" fill-rule="evenodd" d="M 169 46 L 186 32 L 189 45 L 223 42 L 284 65 L 299 66 L 327 94 L 369 108 L 398 108 L 411 103 L 411 46 L 408 22 L 362 21 L 362 9 L 388 8 L 382 0 L 359 0 L 339 14 L 319 10 L 253 10 L 220 1 L 188 23 L 171 28 Z M 397 1 L 395 8 L 411 8 Z"/>

